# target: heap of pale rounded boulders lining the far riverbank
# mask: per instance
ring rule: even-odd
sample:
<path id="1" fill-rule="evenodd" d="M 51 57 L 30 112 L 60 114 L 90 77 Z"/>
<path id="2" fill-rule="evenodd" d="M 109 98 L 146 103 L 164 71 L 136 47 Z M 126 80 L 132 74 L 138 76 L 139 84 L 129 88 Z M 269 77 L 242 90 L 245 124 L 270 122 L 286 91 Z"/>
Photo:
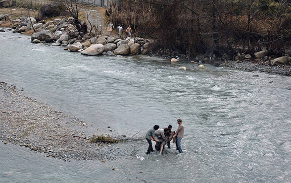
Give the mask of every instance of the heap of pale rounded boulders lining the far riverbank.
<path id="1" fill-rule="evenodd" d="M 65 50 L 79 51 L 84 55 L 129 55 L 147 54 L 151 51 L 153 41 L 139 37 L 109 37 L 96 35 L 96 33 L 79 32 L 74 26 L 74 19 L 55 19 L 53 21 L 37 22 L 33 17 L 20 17 L 11 20 L 8 15 L 0 16 L 0 25 L 10 21 L 15 32 L 36 30 L 31 36 L 32 43 L 49 43 L 53 46 L 65 46 Z"/>

